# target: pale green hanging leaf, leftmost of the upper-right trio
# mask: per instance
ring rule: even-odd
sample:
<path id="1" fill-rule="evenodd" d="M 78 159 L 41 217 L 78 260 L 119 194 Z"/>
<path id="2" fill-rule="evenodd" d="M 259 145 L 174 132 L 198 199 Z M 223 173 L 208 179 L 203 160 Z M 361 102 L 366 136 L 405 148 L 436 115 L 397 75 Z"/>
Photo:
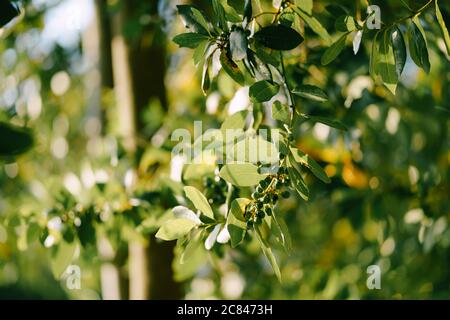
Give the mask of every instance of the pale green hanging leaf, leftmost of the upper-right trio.
<path id="1" fill-rule="evenodd" d="M 379 39 L 378 61 L 376 62 L 376 74 L 381 76 L 384 85 L 395 94 L 397 88 L 398 75 L 394 50 L 392 48 L 392 29 L 387 28 Z"/>

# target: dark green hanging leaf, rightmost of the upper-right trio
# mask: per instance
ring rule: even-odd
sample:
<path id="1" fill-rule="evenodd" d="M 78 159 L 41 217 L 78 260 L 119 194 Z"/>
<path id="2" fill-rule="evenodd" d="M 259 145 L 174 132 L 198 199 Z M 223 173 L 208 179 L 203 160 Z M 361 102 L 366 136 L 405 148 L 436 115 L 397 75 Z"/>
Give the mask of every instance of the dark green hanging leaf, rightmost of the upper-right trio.
<path id="1" fill-rule="evenodd" d="M 425 70 L 426 73 L 429 73 L 428 46 L 425 40 L 425 32 L 417 16 L 412 19 L 412 24 L 409 27 L 409 52 L 414 63 Z"/>

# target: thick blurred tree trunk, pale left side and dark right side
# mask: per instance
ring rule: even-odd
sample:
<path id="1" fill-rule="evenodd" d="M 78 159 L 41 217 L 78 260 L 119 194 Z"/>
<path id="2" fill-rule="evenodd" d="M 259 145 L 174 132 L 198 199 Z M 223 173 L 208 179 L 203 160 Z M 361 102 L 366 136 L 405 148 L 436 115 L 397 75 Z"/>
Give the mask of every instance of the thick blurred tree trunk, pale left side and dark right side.
<path id="1" fill-rule="evenodd" d="M 158 26 L 150 24 L 138 30 L 136 37 L 125 37 L 124 30 L 136 27 L 140 15 L 157 15 L 157 1 L 143 3 L 137 0 L 122 2 L 122 10 L 113 20 L 114 84 L 124 146 L 136 156 L 137 139 L 142 136 L 142 111 L 152 98 L 159 99 L 167 110 L 164 86 L 165 45 L 157 43 Z M 148 7 L 146 7 L 148 6 Z M 127 22 L 132 24 L 127 25 Z M 180 285 L 173 280 L 173 244 L 161 244 L 152 235 L 148 246 L 129 244 L 130 299 L 176 299 L 181 297 Z"/>

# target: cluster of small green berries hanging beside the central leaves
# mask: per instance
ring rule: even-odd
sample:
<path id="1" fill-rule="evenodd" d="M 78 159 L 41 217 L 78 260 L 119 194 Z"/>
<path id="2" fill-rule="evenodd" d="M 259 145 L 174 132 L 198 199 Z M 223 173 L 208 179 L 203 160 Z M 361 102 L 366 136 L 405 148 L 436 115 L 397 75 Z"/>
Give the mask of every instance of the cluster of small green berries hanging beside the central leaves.
<path id="1" fill-rule="evenodd" d="M 252 193 L 252 200 L 246 206 L 244 217 L 247 220 L 247 228 L 254 224 L 261 224 L 264 217 L 272 216 L 273 208 L 280 196 L 289 198 L 290 192 L 286 190 L 289 185 L 289 175 L 285 167 L 280 167 L 276 174 L 268 175 L 261 180 Z"/>

